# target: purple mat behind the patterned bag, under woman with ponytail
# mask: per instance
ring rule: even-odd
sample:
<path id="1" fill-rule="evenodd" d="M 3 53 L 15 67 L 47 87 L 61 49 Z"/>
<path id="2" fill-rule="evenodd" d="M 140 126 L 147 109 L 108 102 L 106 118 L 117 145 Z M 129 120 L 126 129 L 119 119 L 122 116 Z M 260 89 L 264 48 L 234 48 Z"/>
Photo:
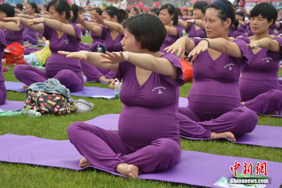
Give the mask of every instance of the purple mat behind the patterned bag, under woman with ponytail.
<path id="1" fill-rule="evenodd" d="M 25 84 L 22 82 L 5 82 L 7 90 L 24 92 L 22 86 Z M 113 99 L 115 98 L 115 91 L 108 88 L 97 88 L 97 87 L 88 87 L 84 86 L 82 91 L 70 92 L 70 95 L 82 96 L 82 97 L 92 97 L 92 98 L 106 98 Z"/>

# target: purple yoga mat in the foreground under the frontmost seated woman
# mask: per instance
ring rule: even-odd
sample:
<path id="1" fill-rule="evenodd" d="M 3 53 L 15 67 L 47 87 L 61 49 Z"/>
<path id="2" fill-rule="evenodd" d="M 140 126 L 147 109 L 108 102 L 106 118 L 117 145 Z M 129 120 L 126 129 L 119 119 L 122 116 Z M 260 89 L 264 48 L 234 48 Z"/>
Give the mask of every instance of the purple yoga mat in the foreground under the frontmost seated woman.
<path id="1" fill-rule="evenodd" d="M 82 170 L 79 167 L 79 160 L 82 156 L 69 140 L 49 140 L 34 136 L 19 136 L 4 134 L 0 136 L 0 161 L 25 163 L 42 166 L 52 166 Z M 196 186 L 217 187 L 216 183 L 221 177 L 232 177 L 230 166 L 238 161 L 248 164 L 259 159 L 248 159 L 240 157 L 220 156 L 202 152 L 182 150 L 179 162 L 173 167 L 157 173 L 141 174 L 139 177 L 147 180 L 161 180 L 175 183 L 185 183 Z M 271 177 L 271 184 L 266 188 L 279 188 L 282 184 L 282 163 L 267 162 L 268 177 Z M 114 175 L 120 175 L 113 171 L 108 171 Z M 242 167 L 237 172 L 242 171 Z M 107 182 L 106 182 L 107 183 Z"/>

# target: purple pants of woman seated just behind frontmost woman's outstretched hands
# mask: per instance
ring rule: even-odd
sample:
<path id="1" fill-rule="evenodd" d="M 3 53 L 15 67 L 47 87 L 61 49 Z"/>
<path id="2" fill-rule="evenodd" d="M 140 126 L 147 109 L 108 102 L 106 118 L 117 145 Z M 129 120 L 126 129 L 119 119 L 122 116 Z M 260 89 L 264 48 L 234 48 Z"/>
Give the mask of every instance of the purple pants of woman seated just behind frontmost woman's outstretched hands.
<path id="1" fill-rule="evenodd" d="M 88 81 L 97 81 L 102 76 L 105 76 L 107 79 L 115 79 L 117 73 L 109 69 L 100 69 L 95 66 L 87 63 L 86 61 L 80 61 L 81 69 Z"/>

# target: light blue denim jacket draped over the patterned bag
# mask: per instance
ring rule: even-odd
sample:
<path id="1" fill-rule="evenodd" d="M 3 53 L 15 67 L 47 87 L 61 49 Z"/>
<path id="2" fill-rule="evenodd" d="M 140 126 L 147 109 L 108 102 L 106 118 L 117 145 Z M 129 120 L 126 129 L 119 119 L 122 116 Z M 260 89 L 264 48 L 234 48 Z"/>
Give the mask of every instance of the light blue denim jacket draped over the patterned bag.
<path id="1" fill-rule="evenodd" d="M 28 96 L 28 90 L 32 91 L 46 91 L 48 93 L 62 94 L 67 98 L 70 98 L 70 90 L 64 85 L 61 85 L 57 79 L 49 78 L 45 82 L 36 82 L 26 89 L 26 97 Z"/>

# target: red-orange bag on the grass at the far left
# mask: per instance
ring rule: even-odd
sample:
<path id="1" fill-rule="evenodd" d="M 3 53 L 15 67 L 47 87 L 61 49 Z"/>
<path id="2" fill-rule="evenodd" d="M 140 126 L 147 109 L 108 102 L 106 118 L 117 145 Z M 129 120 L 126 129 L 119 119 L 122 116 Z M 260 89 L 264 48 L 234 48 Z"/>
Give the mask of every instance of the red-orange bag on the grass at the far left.
<path id="1" fill-rule="evenodd" d="M 25 58 L 24 58 L 24 52 L 26 51 L 26 48 L 23 47 L 21 44 L 17 42 L 13 42 L 10 45 L 7 45 L 5 50 L 8 50 L 10 52 L 4 52 L 4 57 L 6 60 L 7 65 L 19 65 L 19 64 L 26 64 Z"/>

